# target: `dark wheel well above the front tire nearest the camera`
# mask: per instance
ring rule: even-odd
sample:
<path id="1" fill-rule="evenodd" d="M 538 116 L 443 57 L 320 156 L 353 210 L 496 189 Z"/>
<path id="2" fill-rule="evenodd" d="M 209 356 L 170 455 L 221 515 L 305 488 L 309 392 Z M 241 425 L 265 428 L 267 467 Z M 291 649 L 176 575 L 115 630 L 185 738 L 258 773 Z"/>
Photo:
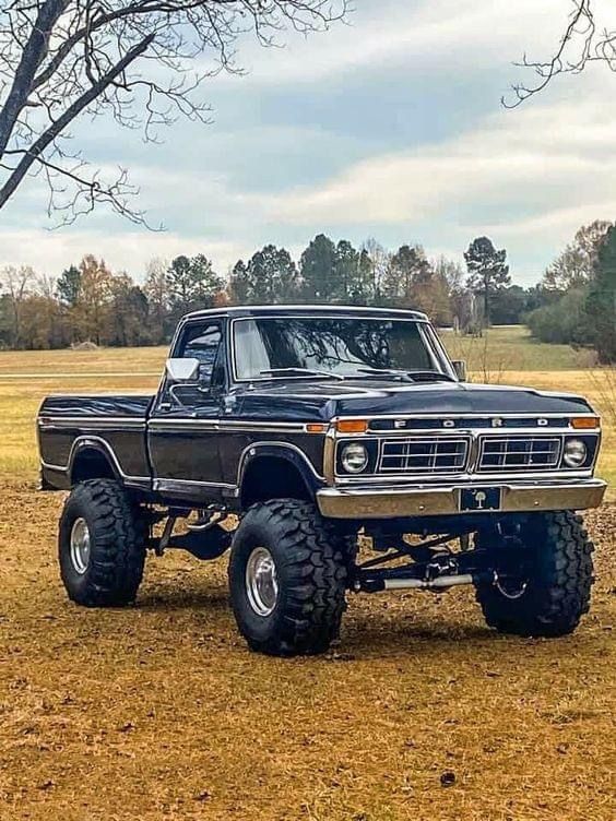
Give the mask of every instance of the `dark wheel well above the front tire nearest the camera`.
<path id="1" fill-rule="evenodd" d="M 270 499 L 305 499 L 311 493 L 299 469 L 282 456 L 257 456 L 246 468 L 241 479 L 241 505 Z"/>

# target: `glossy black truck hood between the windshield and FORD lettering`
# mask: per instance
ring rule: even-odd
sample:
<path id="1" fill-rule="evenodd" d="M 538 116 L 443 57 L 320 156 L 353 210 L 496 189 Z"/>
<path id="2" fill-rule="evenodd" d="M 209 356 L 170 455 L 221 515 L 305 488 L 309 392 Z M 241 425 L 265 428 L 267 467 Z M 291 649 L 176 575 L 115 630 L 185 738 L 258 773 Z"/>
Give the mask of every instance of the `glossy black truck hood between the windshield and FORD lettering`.
<path id="1" fill-rule="evenodd" d="M 241 391 L 241 416 L 268 420 L 329 420 L 336 416 L 459 414 L 584 414 L 582 396 L 534 388 L 437 382 L 269 382 Z"/>

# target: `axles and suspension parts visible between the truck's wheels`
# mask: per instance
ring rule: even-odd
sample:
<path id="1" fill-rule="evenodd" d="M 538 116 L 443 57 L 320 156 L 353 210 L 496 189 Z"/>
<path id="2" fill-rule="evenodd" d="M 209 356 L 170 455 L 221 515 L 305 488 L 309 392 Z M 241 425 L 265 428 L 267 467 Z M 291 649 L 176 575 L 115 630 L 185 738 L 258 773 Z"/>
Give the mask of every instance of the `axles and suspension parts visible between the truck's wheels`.
<path id="1" fill-rule="evenodd" d="M 237 526 L 235 516 L 215 505 L 200 510 L 149 509 L 147 515 L 147 547 L 156 556 L 180 549 L 201 560 L 217 559 L 232 546 Z M 433 533 L 427 532 L 423 522 L 420 536 L 405 530 L 392 532 L 372 526 L 350 534 L 348 528 L 334 526 L 334 538 L 345 544 L 347 590 L 443 593 L 471 584 L 523 590 L 528 551 L 518 535 L 525 516 L 495 516 L 488 523 L 477 521 L 476 516 L 460 516 L 455 523 L 448 520 L 451 517 L 430 520 Z M 413 528 L 416 523 L 405 524 Z M 481 548 L 476 546 L 477 533 L 483 534 Z M 376 556 L 360 558 L 366 552 Z"/>

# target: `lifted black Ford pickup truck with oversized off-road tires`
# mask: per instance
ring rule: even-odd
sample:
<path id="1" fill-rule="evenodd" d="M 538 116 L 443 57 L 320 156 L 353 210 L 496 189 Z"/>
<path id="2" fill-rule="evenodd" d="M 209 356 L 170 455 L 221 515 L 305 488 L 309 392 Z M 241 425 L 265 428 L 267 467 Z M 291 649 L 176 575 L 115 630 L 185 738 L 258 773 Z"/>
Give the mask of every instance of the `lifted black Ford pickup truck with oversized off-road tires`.
<path id="1" fill-rule="evenodd" d="M 154 395 L 54 395 L 44 489 L 70 490 L 69 596 L 132 602 L 147 549 L 215 559 L 249 646 L 325 651 L 347 591 L 472 584 L 488 624 L 589 608 L 601 428 L 570 394 L 471 384 L 426 317 L 356 307 L 185 317 Z M 369 556 L 366 551 L 369 550 Z"/>

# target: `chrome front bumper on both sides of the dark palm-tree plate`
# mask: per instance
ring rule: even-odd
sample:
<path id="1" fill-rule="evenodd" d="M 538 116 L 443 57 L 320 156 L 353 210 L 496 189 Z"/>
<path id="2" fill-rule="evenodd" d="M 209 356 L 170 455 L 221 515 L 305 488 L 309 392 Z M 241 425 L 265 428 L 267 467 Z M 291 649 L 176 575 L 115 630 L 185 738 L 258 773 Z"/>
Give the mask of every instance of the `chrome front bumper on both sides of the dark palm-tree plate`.
<path id="1" fill-rule="evenodd" d="M 467 487 L 467 486 L 466 486 Z M 481 483 L 474 487 L 479 488 Z M 501 489 L 498 511 L 461 511 L 462 485 L 415 487 L 323 488 L 317 504 L 328 519 L 396 519 L 467 513 L 522 513 L 537 510 L 585 510 L 603 501 L 606 483 L 601 479 L 495 483 Z"/>

